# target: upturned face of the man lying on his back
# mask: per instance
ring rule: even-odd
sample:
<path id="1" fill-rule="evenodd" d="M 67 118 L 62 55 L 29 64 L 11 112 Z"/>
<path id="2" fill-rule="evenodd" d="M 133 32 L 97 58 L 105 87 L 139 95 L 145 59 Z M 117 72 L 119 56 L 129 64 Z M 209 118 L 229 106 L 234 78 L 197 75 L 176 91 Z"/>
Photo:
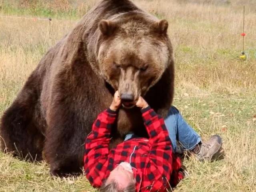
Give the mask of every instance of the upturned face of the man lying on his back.
<path id="1" fill-rule="evenodd" d="M 119 188 L 126 188 L 131 182 L 134 181 L 134 174 L 123 166 L 124 164 L 118 165 L 114 170 L 110 172 L 110 175 L 106 181 L 106 184 L 110 184 L 112 180 L 115 180 L 118 183 Z"/>

